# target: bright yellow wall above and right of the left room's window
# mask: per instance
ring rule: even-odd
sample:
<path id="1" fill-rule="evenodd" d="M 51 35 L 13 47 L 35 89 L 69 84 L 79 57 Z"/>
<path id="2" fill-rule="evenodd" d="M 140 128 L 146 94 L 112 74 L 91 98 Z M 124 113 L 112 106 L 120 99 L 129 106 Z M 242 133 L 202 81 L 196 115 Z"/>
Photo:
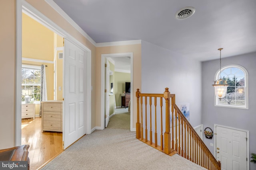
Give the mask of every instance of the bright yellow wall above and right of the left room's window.
<path id="1" fill-rule="evenodd" d="M 22 58 L 54 60 L 54 33 L 22 13 Z M 54 64 L 23 61 L 23 64 L 47 65 L 46 86 L 48 100 L 54 100 Z"/>

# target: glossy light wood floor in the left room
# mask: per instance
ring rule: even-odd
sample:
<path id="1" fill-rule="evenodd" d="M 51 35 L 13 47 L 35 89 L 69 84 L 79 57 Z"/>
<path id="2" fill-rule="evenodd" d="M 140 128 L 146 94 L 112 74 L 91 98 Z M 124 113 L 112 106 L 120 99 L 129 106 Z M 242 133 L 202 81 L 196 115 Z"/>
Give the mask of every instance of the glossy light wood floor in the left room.
<path id="1" fill-rule="evenodd" d="M 22 145 L 30 145 L 30 170 L 36 170 L 63 152 L 62 132 L 41 132 L 41 117 L 22 119 Z"/>

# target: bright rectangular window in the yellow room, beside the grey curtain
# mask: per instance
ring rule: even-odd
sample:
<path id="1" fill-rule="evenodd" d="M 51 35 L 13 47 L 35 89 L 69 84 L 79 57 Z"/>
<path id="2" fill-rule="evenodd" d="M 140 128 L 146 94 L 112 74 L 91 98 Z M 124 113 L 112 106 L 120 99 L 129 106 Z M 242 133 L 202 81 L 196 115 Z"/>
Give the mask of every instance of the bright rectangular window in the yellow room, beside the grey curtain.
<path id="1" fill-rule="evenodd" d="M 41 100 L 41 66 L 22 64 L 22 102 L 25 96 L 30 96 L 30 101 L 40 102 Z"/>

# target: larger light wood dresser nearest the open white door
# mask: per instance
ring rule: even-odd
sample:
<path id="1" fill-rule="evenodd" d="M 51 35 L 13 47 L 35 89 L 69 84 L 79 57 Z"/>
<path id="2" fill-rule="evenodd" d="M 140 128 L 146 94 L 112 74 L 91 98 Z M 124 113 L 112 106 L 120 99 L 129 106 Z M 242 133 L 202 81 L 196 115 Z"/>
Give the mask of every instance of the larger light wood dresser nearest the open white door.
<path id="1" fill-rule="evenodd" d="M 41 102 L 42 132 L 62 132 L 62 101 Z"/>

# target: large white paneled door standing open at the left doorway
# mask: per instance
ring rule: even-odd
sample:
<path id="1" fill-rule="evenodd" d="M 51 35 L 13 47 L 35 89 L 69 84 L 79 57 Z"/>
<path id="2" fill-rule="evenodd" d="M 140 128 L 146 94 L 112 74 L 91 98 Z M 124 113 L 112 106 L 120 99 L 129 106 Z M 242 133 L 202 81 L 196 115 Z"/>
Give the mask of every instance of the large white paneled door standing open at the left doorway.
<path id="1" fill-rule="evenodd" d="M 86 52 L 64 42 L 64 149 L 86 133 Z"/>

